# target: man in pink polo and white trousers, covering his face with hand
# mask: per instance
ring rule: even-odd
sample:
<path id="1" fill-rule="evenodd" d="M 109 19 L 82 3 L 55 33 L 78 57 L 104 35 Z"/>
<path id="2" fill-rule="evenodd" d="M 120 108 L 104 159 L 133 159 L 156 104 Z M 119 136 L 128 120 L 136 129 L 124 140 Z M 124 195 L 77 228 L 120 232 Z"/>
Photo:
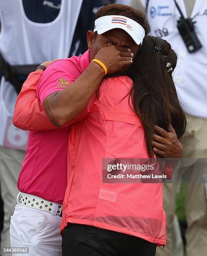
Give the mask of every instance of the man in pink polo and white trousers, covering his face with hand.
<path id="1" fill-rule="evenodd" d="M 139 24 L 145 28 L 146 33 L 148 25 L 144 16 L 139 12 L 138 14 L 141 18 Z M 105 75 L 104 69 L 98 63 L 90 64 L 90 61 L 96 56 L 96 59 L 105 64 L 110 74 L 121 68 L 128 69 L 131 58 L 135 55 L 137 45 L 133 40 L 123 41 L 121 46 L 111 46 L 116 44 L 113 41 L 108 42 L 108 37 L 113 35 L 104 35 L 106 33 L 94 37 L 94 33 L 89 31 L 88 46 L 91 48 L 96 43 L 96 48 L 93 47 L 93 51 L 88 50 L 80 57 L 56 61 L 46 69 L 40 80 L 37 94 L 50 121 L 59 127 L 65 125 L 65 128 L 56 129 L 50 123 L 37 97 L 24 102 L 27 111 L 30 113 L 32 110 L 30 115 L 27 114 L 30 120 L 23 120 L 23 110 L 18 113 L 19 116 L 22 115 L 22 123 L 27 123 L 26 129 L 38 130 L 30 131 L 28 150 L 18 180 L 21 193 L 11 220 L 12 246 L 29 246 L 30 255 L 61 255 L 59 216 L 67 185 L 67 148 L 70 133 L 67 124 L 86 108 Z M 34 92 L 41 75 L 40 70 L 30 74 L 28 82 L 33 84 Z M 41 86 L 45 89 L 40 90 Z M 23 88 L 22 96 L 24 89 L 26 91 L 27 88 Z M 15 111 L 18 112 L 18 106 Z M 18 121 L 14 123 L 17 125 Z M 172 131 L 165 133 L 166 144 L 172 139 L 172 135 L 175 136 Z M 177 143 L 179 145 L 178 141 Z M 174 155 L 172 152 L 170 155 L 164 154 L 159 148 L 157 146 L 157 152 L 163 156 Z M 166 152 L 171 150 L 168 147 Z"/>

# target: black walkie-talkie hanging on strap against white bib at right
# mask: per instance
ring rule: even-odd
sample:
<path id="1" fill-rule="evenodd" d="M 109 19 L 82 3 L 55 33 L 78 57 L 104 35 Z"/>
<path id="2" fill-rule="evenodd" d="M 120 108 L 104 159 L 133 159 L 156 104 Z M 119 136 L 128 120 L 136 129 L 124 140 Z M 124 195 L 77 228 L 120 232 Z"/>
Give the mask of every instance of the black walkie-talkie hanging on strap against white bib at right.
<path id="1" fill-rule="evenodd" d="M 177 9 L 179 10 L 180 15 L 181 15 L 181 17 L 177 21 L 178 31 L 187 47 L 189 53 L 198 51 L 199 49 L 201 49 L 202 44 L 199 41 L 197 34 L 195 33 L 195 30 L 194 30 L 194 23 L 196 23 L 196 22 L 193 22 L 191 18 L 185 19 L 176 0 L 174 0 L 174 2 L 175 2 Z"/>

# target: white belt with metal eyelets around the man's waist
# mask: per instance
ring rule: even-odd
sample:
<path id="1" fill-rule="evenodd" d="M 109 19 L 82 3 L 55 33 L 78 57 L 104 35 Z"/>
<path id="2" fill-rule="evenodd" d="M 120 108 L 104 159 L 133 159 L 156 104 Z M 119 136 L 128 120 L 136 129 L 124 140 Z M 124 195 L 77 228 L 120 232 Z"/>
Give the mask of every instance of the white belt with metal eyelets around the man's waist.
<path id="1" fill-rule="evenodd" d="M 20 205 L 23 205 L 26 207 L 42 210 L 45 212 L 50 212 L 52 215 L 61 215 L 62 207 L 63 207 L 58 203 L 50 202 L 40 197 L 28 195 L 22 192 L 19 193 L 17 202 Z"/>

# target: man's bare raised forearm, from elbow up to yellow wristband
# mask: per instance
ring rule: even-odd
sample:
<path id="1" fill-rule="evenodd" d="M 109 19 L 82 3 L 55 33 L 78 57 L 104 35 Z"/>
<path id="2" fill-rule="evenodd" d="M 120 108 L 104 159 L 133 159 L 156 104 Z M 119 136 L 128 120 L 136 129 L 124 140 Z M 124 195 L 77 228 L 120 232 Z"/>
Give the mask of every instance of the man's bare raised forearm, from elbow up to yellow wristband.
<path id="1" fill-rule="evenodd" d="M 47 97 L 43 102 L 43 108 L 51 122 L 61 127 L 81 114 L 104 74 L 104 69 L 92 62 L 71 86 Z"/>

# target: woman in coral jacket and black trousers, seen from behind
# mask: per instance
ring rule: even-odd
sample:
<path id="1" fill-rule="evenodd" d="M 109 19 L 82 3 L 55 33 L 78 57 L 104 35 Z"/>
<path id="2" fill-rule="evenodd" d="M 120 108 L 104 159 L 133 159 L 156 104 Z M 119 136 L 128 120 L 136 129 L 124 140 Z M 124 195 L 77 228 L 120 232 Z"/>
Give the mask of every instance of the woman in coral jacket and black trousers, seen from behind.
<path id="1" fill-rule="evenodd" d="M 103 183 L 104 158 L 153 158 L 154 125 L 186 119 L 172 72 L 177 55 L 167 41 L 144 38 L 125 76 L 104 79 L 71 126 L 68 187 L 63 203 L 63 256 L 154 256 L 166 245 L 162 183 Z"/>

